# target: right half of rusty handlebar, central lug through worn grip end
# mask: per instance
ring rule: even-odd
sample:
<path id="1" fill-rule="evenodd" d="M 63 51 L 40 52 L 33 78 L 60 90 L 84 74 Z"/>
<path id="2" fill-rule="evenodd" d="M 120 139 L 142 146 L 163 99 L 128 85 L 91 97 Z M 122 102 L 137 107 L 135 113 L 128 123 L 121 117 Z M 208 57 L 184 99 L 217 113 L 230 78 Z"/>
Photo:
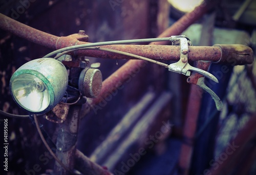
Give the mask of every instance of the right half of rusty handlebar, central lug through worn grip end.
<path id="1" fill-rule="evenodd" d="M 77 41 L 72 37 L 60 37 L 56 43 L 56 49 L 71 45 L 87 44 L 89 42 Z M 73 39 L 72 39 L 73 38 Z M 123 51 L 153 60 L 174 60 L 180 59 L 180 46 L 176 45 L 104 45 L 104 48 Z M 253 62 L 253 51 L 250 47 L 241 44 L 217 44 L 214 46 L 189 46 L 188 60 L 199 61 L 207 60 L 216 63 L 225 63 L 231 65 L 244 65 Z M 89 56 L 96 58 L 110 59 L 134 59 L 129 56 L 119 55 L 104 51 L 79 50 L 75 55 Z"/>

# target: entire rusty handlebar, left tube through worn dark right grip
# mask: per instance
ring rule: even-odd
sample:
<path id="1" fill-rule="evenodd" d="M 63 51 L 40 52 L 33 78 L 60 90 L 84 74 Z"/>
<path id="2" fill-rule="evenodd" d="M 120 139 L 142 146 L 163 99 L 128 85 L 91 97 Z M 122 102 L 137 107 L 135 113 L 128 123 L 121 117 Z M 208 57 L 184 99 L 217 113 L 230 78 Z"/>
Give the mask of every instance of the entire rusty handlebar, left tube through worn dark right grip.
<path id="1" fill-rule="evenodd" d="M 0 28 L 9 31 L 19 37 L 25 38 L 31 42 L 44 45 L 49 48 L 59 49 L 72 45 L 87 44 L 82 41 L 86 36 L 73 34 L 66 37 L 57 37 L 20 23 L 10 17 L 0 13 Z M 83 38 L 84 37 L 84 38 Z M 180 46 L 173 45 L 105 45 L 102 47 L 123 51 L 153 60 L 179 60 Z M 134 59 L 129 56 L 119 54 L 80 50 L 73 54 L 80 56 L 89 56 L 97 58 L 111 59 Z M 225 63 L 231 65 L 250 64 L 253 61 L 252 49 L 245 45 L 214 45 L 214 46 L 189 46 L 188 60 L 208 60 L 216 63 Z"/>

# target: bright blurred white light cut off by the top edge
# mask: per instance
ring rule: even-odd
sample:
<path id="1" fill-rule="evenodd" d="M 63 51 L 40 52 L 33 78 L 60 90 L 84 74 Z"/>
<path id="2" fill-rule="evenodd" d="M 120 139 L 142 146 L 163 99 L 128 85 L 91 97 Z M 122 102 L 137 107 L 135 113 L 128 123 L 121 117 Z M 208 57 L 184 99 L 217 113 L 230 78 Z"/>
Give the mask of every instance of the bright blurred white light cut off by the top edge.
<path id="1" fill-rule="evenodd" d="M 182 12 L 191 12 L 195 7 L 202 4 L 203 0 L 168 0 L 168 2 L 176 9 Z"/>

